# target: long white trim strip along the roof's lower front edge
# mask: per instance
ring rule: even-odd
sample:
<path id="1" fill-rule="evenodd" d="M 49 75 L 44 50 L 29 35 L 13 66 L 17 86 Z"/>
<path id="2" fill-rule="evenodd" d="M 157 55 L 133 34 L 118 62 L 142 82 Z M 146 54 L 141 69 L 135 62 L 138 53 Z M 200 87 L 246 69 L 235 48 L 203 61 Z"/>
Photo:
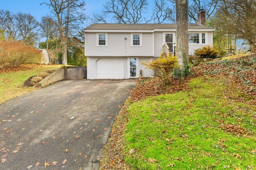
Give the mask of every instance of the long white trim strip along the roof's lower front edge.
<path id="1" fill-rule="evenodd" d="M 155 31 L 176 31 L 176 29 L 152 29 L 152 30 L 113 30 L 113 29 L 84 29 L 84 32 L 86 33 L 97 33 L 97 32 L 102 32 L 102 33 L 136 33 L 136 32 L 142 32 L 142 33 L 153 33 Z M 188 31 L 215 31 L 215 29 L 188 29 Z"/>

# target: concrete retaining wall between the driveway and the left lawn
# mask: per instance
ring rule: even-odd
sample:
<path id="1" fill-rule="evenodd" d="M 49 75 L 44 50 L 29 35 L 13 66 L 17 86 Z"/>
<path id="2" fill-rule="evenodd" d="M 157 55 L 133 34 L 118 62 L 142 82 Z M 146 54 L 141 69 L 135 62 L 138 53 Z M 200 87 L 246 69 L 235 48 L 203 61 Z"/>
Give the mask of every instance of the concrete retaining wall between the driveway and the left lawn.
<path id="1" fill-rule="evenodd" d="M 58 82 L 60 80 L 67 79 L 86 79 L 87 67 L 83 66 L 61 66 L 55 70 L 52 74 L 44 78 L 38 83 L 38 87 L 42 88 L 48 86 L 51 83 Z"/>

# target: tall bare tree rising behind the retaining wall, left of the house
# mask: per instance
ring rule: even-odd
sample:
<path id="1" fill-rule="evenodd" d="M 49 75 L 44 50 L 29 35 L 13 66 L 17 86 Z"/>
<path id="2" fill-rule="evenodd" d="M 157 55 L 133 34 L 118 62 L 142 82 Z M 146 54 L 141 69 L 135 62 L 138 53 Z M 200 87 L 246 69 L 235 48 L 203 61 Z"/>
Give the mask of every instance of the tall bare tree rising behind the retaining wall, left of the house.
<path id="1" fill-rule="evenodd" d="M 51 14 L 58 21 L 62 46 L 62 64 L 67 64 L 68 36 L 78 33 L 86 20 L 84 0 L 48 0 L 41 3 L 49 6 Z"/>

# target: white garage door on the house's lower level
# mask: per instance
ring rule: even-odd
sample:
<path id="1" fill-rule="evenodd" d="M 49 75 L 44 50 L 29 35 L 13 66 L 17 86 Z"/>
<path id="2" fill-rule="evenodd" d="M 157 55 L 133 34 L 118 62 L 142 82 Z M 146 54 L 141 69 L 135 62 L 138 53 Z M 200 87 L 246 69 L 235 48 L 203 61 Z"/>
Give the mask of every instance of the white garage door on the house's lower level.
<path id="1" fill-rule="evenodd" d="M 121 59 L 98 59 L 96 79 L 100 78 L 124 78 L 124 62 Z"/>

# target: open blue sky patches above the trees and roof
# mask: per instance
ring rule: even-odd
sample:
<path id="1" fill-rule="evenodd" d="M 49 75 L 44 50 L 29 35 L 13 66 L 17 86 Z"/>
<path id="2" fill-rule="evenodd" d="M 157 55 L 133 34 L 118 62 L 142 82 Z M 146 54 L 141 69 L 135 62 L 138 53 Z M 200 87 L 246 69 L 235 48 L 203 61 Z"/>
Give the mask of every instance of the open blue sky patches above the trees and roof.
<path id="1" fill-rule="evenodd" d="M 10 10 L 13 13 L 30 13 L 39 21 L 42 16 L 50 13 L 48 6 L 40 5 L 44 1 L 47 0 L 0 0 L 0 9 Z M 100 12 L 103 8 L 102 4 L 105 4 L 105 2 L 106 0 L 86 0 L 85 13 L 87 16 L 92 16 L 93 12 Z M 148 0 L 149 11 L 152 4 L 153 0 Z M 145 16 L 149 17 L 150 14 L 145 14 Z"/>

